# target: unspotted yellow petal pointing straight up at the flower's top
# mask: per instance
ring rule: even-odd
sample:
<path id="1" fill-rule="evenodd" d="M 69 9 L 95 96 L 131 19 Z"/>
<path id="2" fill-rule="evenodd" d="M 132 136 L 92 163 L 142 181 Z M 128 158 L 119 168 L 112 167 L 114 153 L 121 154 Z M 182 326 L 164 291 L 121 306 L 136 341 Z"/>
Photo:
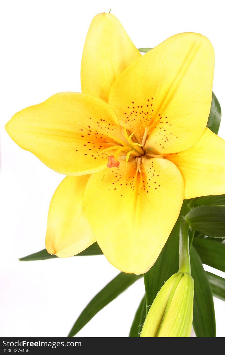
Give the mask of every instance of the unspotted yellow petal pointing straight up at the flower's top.
<path id="1" fill-rule="evenodd" d="M 91 22 L 81 61 L 82 92 L 108 102 L 116 78 L 141 57 L 122 24 L 111 13 L 100 13 Z"/>

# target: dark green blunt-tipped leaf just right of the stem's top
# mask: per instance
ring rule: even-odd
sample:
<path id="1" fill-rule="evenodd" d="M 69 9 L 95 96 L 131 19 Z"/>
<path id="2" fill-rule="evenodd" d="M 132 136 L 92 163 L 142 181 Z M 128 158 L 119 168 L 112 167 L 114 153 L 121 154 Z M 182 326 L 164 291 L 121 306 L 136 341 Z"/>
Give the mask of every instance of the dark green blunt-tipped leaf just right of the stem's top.
<path id="1" fill-rule="evenodd" d="M 225 237 L 225 206 L 193 208 L 185 217 L 190 227 L 209 237 Z"/>

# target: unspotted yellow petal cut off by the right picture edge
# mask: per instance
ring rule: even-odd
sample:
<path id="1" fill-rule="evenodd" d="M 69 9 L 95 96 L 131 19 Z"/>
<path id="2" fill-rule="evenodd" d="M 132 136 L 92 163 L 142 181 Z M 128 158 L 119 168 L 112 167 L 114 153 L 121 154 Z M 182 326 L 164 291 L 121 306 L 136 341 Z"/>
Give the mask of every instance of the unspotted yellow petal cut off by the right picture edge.
<path id="1" fill-rule="evenodd" d="M 209 128 L 192 148 L 166 158 L 183 175 L 184 198 L 225 194 L 225 141 Z"/>

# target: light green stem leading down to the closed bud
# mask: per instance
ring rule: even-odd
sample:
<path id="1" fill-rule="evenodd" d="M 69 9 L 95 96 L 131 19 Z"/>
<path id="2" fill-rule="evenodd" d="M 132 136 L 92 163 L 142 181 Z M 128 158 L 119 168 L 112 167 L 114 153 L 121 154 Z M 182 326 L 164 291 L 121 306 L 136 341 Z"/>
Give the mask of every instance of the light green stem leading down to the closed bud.
<path id="1" fill-rule="evenodd" d="M 179 261 L 179 272 L 187 272 L 191 274 L 191 262 L 189 254 L 189 237 L 188 237 L 189 225 L 185 218 L 181 218 L 180 224 L 180 261 Z"/>

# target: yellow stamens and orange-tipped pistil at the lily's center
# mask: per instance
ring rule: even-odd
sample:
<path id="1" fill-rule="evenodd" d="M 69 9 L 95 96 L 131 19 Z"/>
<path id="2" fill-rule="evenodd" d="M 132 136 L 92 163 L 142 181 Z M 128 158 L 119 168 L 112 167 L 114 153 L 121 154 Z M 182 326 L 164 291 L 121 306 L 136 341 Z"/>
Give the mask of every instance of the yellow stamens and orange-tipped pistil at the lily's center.
<path id="1" fill-rule="evenodd" d="M 116 137 L 111 136 L 108 133 L 106 134 L 108 137 L 112 138 L 114 141 L 119 143 L 117 146 L 112 146 L 104 149 L 104 152 L 115 150 L 114 155 L 109 156 L 109 160 L 107 164 L 108 168 L 119 166 L 119 162 L 117 160 L 120 157 L 121 158 L 125 157 L 125 162 L 127 166 L 127 162 L 129 158 L 134 158 L 134 157 L 136 158 L 145 154 L 145 152 L 142 149 L 143 145 L 133 141 L 132 137 L 134 135 L 134 132 L 128 136 L 127 130 L 125 129 L 125 125 L 123 126 L 124 141 L 118 140 Z"/>

